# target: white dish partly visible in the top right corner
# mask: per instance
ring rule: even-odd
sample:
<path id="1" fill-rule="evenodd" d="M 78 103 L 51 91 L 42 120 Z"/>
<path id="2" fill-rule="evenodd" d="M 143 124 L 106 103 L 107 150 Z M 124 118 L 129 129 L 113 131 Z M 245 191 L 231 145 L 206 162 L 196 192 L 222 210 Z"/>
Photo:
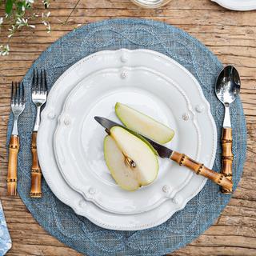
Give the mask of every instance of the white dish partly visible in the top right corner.
<path id="1" fill-rule="evenodd" d="M 211 0 L 230 10 L 256 10 L 256 0 Z"/>

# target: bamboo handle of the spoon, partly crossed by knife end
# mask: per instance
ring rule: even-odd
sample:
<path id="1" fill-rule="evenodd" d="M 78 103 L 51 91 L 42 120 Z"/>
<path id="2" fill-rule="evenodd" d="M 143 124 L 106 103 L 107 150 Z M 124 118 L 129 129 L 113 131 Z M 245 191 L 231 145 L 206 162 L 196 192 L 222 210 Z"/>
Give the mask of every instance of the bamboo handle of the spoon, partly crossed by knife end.
<path id="1" fill-rule="evenodd" d="M 232 181 L 232 163 L 234 155 L 232 154 L 232 128 L 222 129 L 222 171 L 221 173 Z M 232 191 L 232 188 L 231 188 Z M 229 194 L 230 191 L 222 188 L 222 193 Z"/>

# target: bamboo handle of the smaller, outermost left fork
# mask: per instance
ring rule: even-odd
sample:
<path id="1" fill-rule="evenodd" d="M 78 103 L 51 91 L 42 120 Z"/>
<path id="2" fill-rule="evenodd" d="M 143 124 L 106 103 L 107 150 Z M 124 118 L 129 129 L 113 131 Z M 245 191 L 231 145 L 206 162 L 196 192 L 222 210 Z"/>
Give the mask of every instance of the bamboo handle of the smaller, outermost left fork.
<path id="1" fill-rule="evenodd" d="M 9 143 L 9 159 L 7 173 L 7 195 L 17 194 L 17 166 L 18 166 L 18 150 L 19 138 L 18 135 L 11 135 Z"/>

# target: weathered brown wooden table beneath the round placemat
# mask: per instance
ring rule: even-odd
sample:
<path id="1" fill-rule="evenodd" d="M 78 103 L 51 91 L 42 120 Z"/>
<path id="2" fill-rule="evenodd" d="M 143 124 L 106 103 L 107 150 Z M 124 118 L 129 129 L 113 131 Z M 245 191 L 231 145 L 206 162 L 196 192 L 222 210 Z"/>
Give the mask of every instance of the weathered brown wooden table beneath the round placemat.
<path id="1" fill-rule="evenodd" d="M 52 32 L 46 34 L 38 22 L 35 30 L 16 34 L 10 43 L 10 56 L 0 57 L 0 194 L 13 241 L 8 255 L 80 255 L 47 234 L 18 196 L 6 196 L 10 82 L 22 79 L 38 55 L 77 24 L 116 17 L 153 18 L 178 26 L 208 46 L 223 64 L 237 66 L 242 78 L 241 96 L 248 130 L 242 179 L 215 224 L 172 255 L 256 255 L 256 11 L 224 10 L 210 0 L 173 0 L 158 10 L 142 10 L 129 0 L 84 0 L 78 3 L 69 22 L 62 25 L 75 3 L 74 0 L 52 1 Z M 3 9 L 0 9 L 1 16 Z M 1 32 L 0 44 L 5 39 L 6 32 Z"/>

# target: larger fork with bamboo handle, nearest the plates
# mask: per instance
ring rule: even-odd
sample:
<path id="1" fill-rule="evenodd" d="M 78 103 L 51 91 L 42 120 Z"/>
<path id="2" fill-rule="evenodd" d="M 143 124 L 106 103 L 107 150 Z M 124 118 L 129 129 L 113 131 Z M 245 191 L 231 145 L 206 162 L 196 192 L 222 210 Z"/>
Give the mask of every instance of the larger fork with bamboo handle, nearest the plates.
<path id="1" fill-rule="evenodd" d="M 34 70 L 32 82 L 32 102 L 37 108 L 37 115 L 34 122 L 34 129 L 32 133 L 31 151 L 32 151 L 32 167 L 31 167 L 31 198 L 42 198 L 42 171 L 38 162 L 37 151 L 37 135 L 40 126 L 41 106 L 46 103 L 47 89 L 46 89 L 46 70 Z"/>

